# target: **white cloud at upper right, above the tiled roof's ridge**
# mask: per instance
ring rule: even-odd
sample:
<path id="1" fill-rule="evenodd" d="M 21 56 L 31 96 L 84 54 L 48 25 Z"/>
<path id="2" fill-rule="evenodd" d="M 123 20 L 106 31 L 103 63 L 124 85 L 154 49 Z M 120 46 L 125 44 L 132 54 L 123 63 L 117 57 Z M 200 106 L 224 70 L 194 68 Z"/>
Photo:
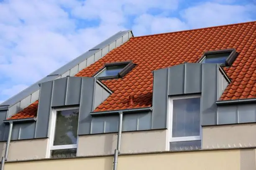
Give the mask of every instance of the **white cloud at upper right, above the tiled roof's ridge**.
<path id="1" fill-rule="evenodd" d="M 250 21 L 250 13 L 253 11 L 256 11 L 254 5 L 221 5 L 206 2 L 187 8 L 181 15 L 190 28 L 202 28 Z"/>

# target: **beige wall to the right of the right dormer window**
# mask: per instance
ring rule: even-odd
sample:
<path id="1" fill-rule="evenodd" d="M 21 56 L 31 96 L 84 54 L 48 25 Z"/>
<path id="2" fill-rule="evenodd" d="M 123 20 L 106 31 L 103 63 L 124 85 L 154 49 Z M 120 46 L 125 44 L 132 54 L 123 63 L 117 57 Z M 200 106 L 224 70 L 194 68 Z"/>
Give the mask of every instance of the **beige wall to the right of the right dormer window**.
<path id="1" fill-rule="evenodd" d="M 256 146 L 256 123 L 215 125 L 202 128 L 202 148 Z"/>

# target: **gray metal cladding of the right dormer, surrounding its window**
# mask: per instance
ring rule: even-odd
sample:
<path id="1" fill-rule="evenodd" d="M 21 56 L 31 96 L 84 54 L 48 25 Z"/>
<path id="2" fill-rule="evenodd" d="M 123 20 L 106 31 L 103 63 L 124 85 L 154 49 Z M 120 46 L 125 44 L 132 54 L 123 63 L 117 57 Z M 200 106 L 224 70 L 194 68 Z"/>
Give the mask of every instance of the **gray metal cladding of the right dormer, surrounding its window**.
<path id="1" fill-rule="evenodd" d="M 198 93 L 202 98 L 202 125 L 216 125 L 215 102 L 227 85 L 215 63 L 185 63 L 154 71 L 152 128 L 167 128 L 168 97 Z"/>

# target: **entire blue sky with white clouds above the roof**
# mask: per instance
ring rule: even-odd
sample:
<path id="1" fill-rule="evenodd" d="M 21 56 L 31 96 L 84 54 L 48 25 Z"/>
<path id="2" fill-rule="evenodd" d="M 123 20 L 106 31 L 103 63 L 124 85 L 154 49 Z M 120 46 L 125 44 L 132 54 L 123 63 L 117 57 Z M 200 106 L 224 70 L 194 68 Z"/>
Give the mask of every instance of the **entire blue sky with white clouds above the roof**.
<path id="1" fill-rule="evenodd" d="M 256 20 L 256 0 L 0 0 L 0 103 L 120 30 Z"/>

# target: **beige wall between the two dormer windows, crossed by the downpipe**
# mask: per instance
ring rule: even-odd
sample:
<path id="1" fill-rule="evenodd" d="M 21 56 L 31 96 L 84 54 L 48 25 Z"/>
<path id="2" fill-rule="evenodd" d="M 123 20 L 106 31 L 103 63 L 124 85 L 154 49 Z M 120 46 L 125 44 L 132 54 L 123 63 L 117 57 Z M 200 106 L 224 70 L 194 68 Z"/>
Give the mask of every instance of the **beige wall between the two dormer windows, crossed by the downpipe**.
<path id="1" fill-rule="evenodd" d="M 166 150 L 167 130 L 124 132 L 120 153 Z M 109 155 L 117 147 L 117 133 L 83 135 L 78 138 L 77 156 Z"/>

